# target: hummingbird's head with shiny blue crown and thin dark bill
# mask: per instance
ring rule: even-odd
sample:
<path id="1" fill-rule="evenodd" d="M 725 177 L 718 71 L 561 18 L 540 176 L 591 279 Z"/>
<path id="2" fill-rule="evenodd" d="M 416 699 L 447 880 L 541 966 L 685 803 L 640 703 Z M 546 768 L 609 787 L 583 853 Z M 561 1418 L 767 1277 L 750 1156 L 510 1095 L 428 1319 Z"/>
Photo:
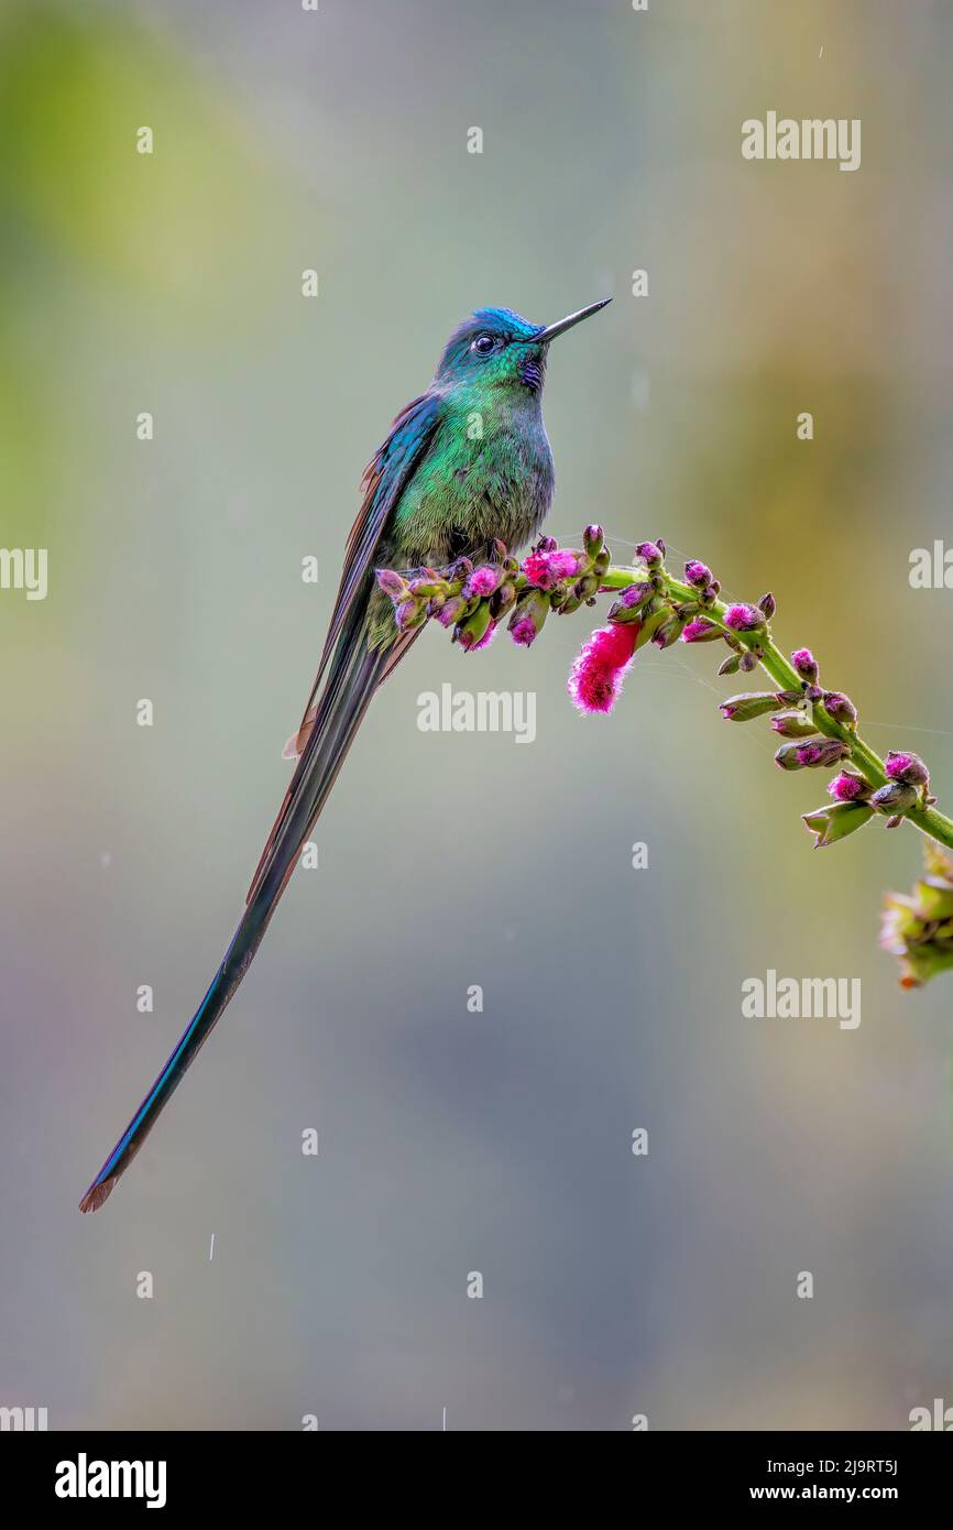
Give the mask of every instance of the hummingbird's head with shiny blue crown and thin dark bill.
<path id="1" fill-rule="evenodd" d="M 434 381 L 485 382 L 540 393 L 551 341 L 610 301 L 606 297 L 590 303 L 555 324 L 531 324 L 509 308 L 479 308 L 447 341 Z"/>

